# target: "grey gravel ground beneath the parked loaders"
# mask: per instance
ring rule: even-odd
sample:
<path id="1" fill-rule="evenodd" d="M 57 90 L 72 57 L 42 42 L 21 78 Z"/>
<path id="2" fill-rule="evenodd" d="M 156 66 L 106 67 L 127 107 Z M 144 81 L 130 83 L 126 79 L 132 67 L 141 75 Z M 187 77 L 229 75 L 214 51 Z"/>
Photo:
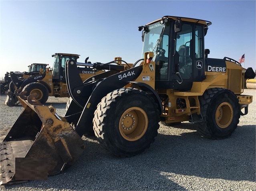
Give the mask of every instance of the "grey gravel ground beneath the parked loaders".
<path id="1" fill-rule="evenodd" d="M 245 89 L 256 98 L 256 90 Z M 4 105 L 0 96 L 0 139 L 3 140 L 22 111 L 22 106 Z M 60 116 L 67 98 L 50 97 Z M 201 137 L 193 124 L 160 125 L 151 147 L 135 157 L 117 158 L 94 137 L 83 139 L 87 148 L 77 163 L 48 180 L 0 186 L 0 190 L 206 190 L 255 191 L 256 101 L 241 116 L 234 134 L 224 140 Z"/>

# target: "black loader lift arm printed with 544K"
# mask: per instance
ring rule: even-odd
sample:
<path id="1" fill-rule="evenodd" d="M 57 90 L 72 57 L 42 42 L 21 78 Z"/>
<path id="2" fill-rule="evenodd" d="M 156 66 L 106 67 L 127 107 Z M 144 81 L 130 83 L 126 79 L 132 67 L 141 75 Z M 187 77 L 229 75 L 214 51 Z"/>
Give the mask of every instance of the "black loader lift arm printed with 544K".
<path id="1" fill-rule="evenodd" d="M 94 112 L 97 109 L 97 104 L 101 101 L 101 99 L 106 96 L 108 93 L 122 88 L 127 85 L 129 82 L 133 81 L 141 74 L 143 69 L 143 65 L 139 65 L 138 67 L 134 67 L 123 72 L 119 72 L 115 75 L 111 75 L 98 83 L 88 101 L 86 102 L 83 112 L 80 116 L 80 119 L 77 123 L 76 132 L 79 136 L 83 136 L 85 134 L 86 129 L 91 127 L 85 126 L 85 124 L 92 124 Z M 83 90 L 85 91 L 85 90 Z M 80 102 L 79 104 L 84 104 Z"/>

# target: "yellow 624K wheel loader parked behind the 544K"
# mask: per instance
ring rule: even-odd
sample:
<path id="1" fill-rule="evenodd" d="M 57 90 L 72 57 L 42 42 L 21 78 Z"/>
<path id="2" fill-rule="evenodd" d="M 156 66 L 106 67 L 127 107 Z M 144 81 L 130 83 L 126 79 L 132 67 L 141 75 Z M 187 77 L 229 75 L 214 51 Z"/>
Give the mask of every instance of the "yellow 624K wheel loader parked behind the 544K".
<path id="1" fill-rule="evenodd" d="M 35 99 L 43 104 L 48 100 L 48 96 L 69 97 L 65 78 L 65 62 L 68 59 L 77 61 L 79 56 L 77 54 L 55 53 L 52 55 L 54 57 L 52 70 L 48 68 L 39 72 L 40 68 L 32 65 L 31 69 L 36 70 L 37 73 L 23 79 L 20 79 L 16 73 L 10 72 L 12 82 L 10 83 L 10 91 L 6 94 L 5 104 L 13 106 L 19 103 L 14 94 L 16 89 L 26 91 L 26 95 L 35 94 Z M 80 67 L 79 69 L 83 80 L 103 72 L 90 67 Z"/>

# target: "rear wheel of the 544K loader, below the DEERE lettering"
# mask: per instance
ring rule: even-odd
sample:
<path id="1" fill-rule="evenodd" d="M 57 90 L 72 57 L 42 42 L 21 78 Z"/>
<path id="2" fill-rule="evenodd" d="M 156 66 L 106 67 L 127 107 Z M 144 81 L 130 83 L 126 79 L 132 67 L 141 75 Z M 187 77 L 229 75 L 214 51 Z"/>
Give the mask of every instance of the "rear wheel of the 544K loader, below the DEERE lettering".
<path id="1" fill-rule="evenodd" d="M 228 138 L 237 128 L 240 105 L 236 95 L 222 88 L 208 89 L 199 97 L 203 122 L 198 123 L 198 131 L 213 139 Z"/>

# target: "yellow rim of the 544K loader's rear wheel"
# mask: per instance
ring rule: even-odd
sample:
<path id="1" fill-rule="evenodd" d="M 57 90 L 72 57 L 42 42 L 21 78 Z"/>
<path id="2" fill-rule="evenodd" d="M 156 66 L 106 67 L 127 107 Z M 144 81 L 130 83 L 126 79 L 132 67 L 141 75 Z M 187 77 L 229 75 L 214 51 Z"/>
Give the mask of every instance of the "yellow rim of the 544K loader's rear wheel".
<path id="1" fill-rule="evenodd" d="M 215 120 L 220 128 L 227 128 L 234 117 L 232 105 L 228 102 L 220 104 L 216 110 Z"/>

